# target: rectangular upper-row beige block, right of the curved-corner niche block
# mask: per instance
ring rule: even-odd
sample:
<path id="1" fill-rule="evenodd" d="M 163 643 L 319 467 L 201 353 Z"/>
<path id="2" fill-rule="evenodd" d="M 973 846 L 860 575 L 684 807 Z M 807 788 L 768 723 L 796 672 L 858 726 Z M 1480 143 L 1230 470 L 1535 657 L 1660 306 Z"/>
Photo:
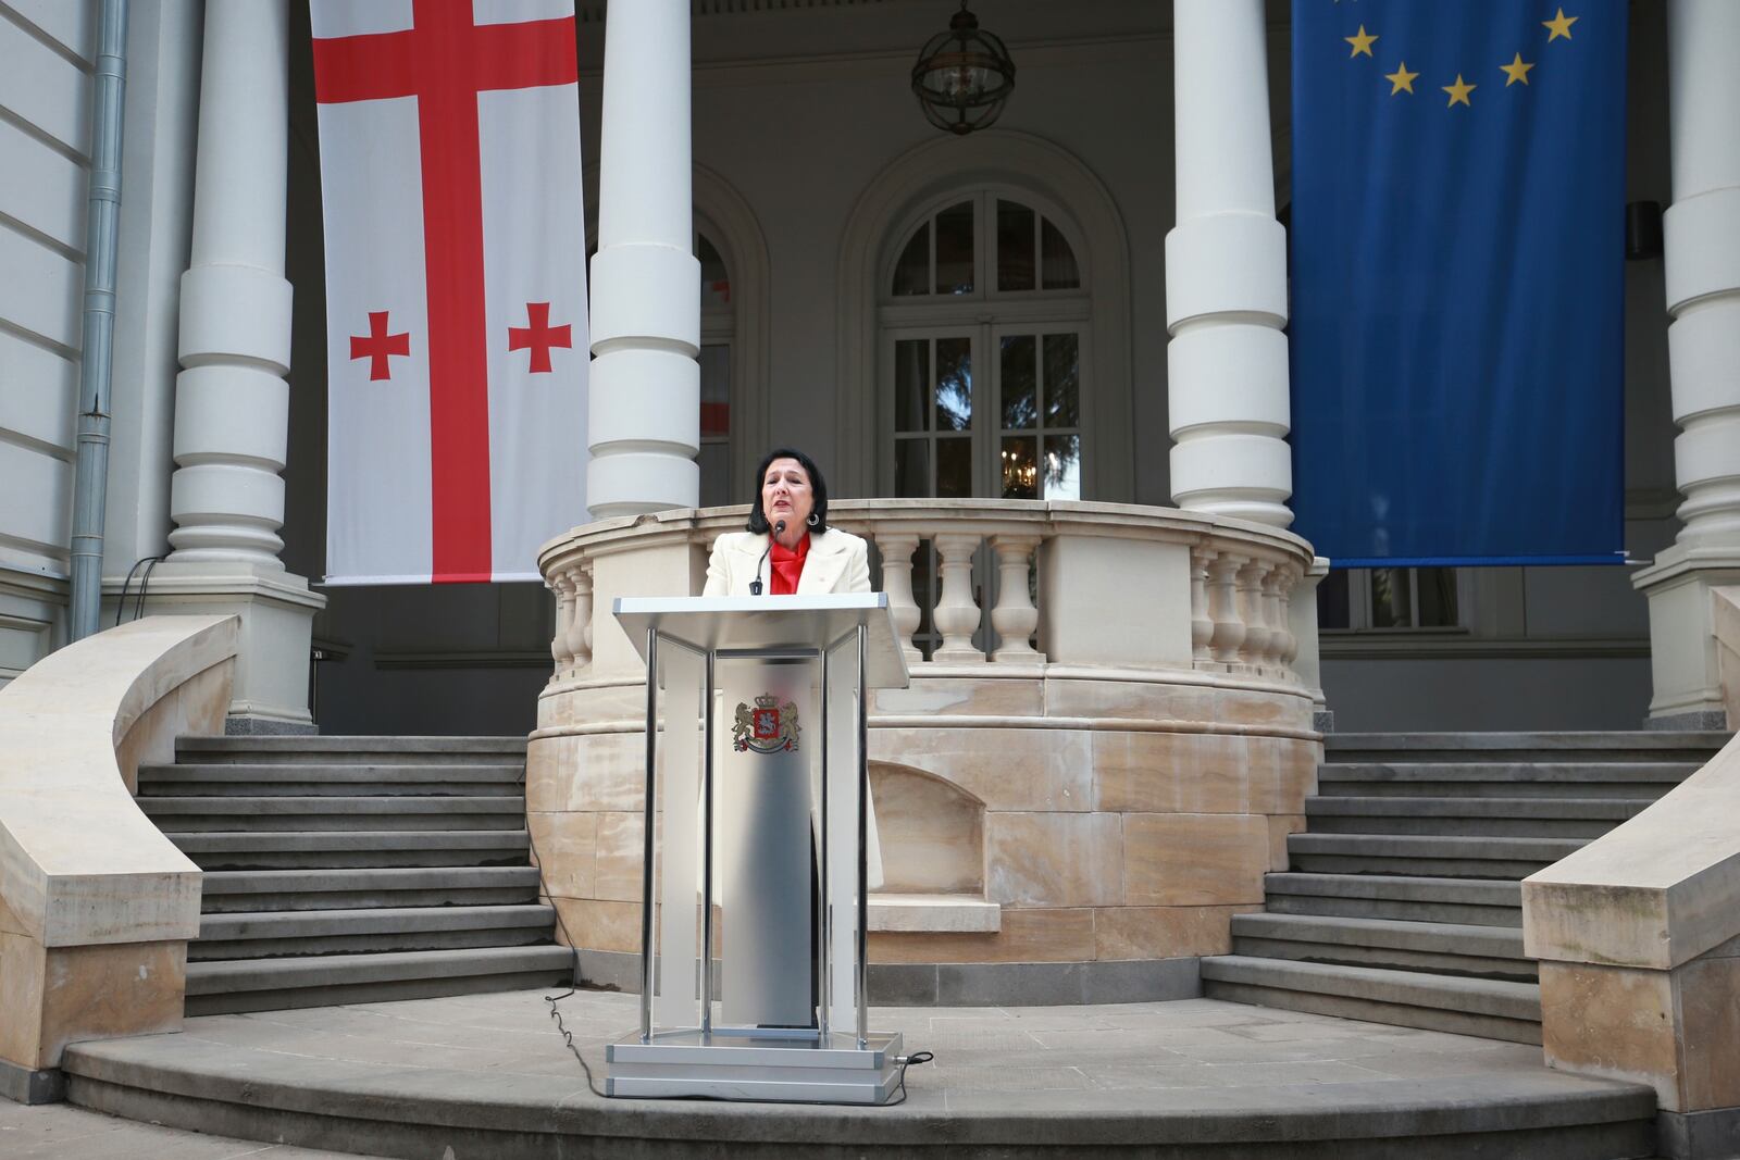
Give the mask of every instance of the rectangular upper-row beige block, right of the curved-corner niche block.
<path id="1" fill-rule="evenodd" d="M 1251 746 L 1239 734 L 1096 732 L 1098 805 L 1108 812 L 1248 814 Z"/>

